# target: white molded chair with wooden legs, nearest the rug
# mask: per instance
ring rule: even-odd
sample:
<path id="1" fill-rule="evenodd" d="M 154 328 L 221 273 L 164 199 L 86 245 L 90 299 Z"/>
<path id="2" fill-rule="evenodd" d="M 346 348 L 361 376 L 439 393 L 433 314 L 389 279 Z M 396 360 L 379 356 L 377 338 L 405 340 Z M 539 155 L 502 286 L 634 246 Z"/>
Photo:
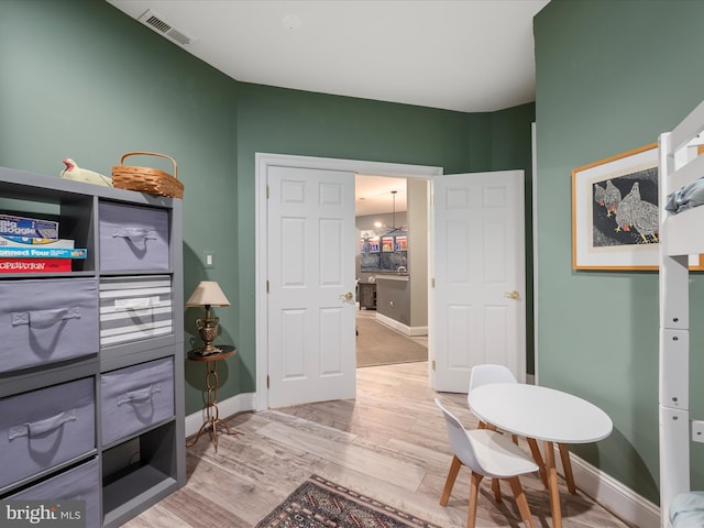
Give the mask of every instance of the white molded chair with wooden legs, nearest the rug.
<path id="1" fill-rule="evenodd" d="M 516 497 L 521 521 L 526 527 L 535 528 L 530 507 L 518 476 L 538 471 L 538 464 L 502 433 L 491 429 L 468 431 L 460 420 L 442 406 L 440 399 L 436 398 L 436 405 L 444 415 L 450 446 L 454 451 L 450 472 L 440 497 L 440 506 L 448 505 L 460 468 L 465 465 L 472 472 L 470 507 L 466 515 L 468 528 L 474 528 L 479 487 L 485 476 L 494 479 L 495 482 L 498 482 L 499 479 L 508 481 Z"/>

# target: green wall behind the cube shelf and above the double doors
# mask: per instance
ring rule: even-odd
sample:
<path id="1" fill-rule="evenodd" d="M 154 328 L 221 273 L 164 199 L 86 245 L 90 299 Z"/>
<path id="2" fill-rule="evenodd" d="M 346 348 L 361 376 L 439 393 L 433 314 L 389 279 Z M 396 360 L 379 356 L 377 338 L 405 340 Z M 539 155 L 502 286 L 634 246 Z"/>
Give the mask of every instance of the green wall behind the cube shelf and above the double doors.
<path id="1" fill-rule="evenodd" d="M 70 156 L 110 174 L 131 151 L 178 162 L 185 295 L 218 280 L 232 304 L 215 309 L 221 341 L 238 346 L 219 366 L 220 400 L 255 389 L 256 152 L 524 168 L 529 179 L 532 103 L 469 114 L 240 82 L 102 1 L 0 1 L 0 64 L 1 166 L 57 176 Z M 199 316 L 185 311 L 188 348 Z M 202 407 L 204 377 L 186 362 L 186 414 Z"/>

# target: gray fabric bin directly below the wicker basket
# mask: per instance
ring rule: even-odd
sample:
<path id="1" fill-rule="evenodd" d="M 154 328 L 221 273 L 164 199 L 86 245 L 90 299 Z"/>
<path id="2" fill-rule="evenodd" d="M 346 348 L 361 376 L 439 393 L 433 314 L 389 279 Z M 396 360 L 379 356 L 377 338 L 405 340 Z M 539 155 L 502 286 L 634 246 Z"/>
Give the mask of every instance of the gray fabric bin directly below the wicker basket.
<path id="1" fill-rule="evenodd" d="M 100 202 L 100 270 L 168 270 L 168 211 Z"/>

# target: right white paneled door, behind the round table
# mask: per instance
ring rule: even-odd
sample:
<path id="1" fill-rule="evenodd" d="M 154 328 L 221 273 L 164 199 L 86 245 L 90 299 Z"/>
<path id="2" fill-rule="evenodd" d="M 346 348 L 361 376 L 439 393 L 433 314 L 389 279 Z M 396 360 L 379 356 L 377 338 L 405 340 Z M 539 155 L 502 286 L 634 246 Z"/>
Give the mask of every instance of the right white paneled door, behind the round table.
<path id="1" fill-rule="evenodd" d="M 433 201 L 433 388 L 466 393 L 480 363 L 525 381 L 524 172 L 438 176 Z"/>

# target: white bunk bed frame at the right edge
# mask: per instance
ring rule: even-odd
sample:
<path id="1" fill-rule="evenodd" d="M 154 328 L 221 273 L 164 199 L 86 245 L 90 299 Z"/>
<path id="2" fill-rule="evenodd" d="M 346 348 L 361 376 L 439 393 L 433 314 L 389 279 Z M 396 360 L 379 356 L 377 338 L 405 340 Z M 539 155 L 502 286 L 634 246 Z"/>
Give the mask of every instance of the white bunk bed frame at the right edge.
<path id="1" fill-rule="evenodd" d="M 690 419 L 690 255 L 704 254 L 704 206 L 679 213 L 668 197 L 704 176 L 704 102 L 660 135 L 660 526 L 671 527 L 670 506 L 690 492 L 690 442 L 704 442 L 704 421 Z M 704 138 L 704 134 L 702 134 Z M 688 525 L 690 526 L 690 525 Z M 702 526 L 702 525 L 698 525 Z"/>

